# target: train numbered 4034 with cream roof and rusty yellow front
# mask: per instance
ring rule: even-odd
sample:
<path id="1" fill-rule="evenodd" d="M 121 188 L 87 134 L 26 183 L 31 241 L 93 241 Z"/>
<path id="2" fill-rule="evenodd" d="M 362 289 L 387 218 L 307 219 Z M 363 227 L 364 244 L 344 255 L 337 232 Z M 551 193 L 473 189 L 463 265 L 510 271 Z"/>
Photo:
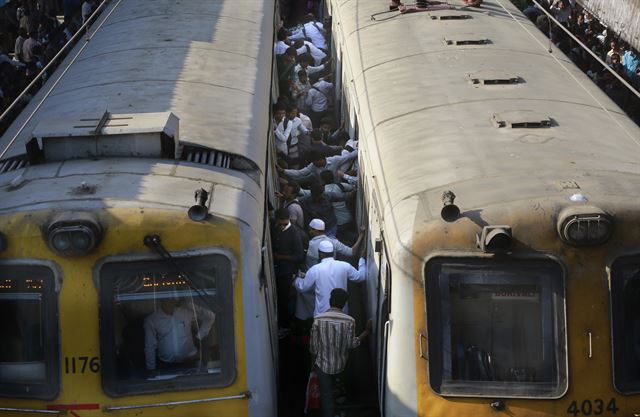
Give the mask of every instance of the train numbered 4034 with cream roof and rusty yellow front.
<path id="1" fill-rule="evenodd" d="M 640 129 L 508 0 L 425 6 L 328 2 L 382 414 L 639 415 Z"/>

